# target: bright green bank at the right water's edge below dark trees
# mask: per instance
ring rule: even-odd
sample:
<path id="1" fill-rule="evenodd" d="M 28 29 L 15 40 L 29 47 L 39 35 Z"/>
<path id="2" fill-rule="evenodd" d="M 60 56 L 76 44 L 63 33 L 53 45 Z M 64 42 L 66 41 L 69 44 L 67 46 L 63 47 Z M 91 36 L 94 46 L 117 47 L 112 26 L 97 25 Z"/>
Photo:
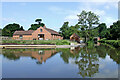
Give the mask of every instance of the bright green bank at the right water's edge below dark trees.
<path id="1" fill-rule="evenodd" d="M 120 40 L 106 40 L 106 39 L 101 39 L 99 40 L 100 43 L 105 43 L 105 44 L 109 44 L 112 45 L 113 47 L 120 47 Z"/>

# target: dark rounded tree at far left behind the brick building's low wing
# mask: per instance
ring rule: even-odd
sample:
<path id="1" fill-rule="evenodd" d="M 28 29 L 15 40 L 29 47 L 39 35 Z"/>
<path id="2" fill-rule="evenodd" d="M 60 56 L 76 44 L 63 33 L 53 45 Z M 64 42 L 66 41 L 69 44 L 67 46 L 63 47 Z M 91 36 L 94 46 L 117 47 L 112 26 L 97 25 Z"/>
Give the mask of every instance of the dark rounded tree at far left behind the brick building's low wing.
<path id="1" fill-rule="evenodd" d="M 23 26 L 20 26 L 19 24 L 16 23 L 8 24 L 2 29 L 2 36 L 12 37 L 13 33 L 19 30 L 24 30 Z"/>

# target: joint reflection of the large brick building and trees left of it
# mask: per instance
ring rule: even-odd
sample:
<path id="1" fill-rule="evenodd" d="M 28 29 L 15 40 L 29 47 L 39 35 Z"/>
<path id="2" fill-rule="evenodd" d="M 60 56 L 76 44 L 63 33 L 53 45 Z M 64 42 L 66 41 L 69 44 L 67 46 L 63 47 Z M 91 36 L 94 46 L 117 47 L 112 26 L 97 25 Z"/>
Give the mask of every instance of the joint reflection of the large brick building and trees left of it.
<path id="1" fill-rule="evenodd" d="M 46 60 L 56 54 L 55 49 L 39 50 L 39 49 L 4 49 L 2 54 L 9 60 L 18 60 L 20 57 L 31 57 L 37 59 L 37 64 L 42 64 Z"/>

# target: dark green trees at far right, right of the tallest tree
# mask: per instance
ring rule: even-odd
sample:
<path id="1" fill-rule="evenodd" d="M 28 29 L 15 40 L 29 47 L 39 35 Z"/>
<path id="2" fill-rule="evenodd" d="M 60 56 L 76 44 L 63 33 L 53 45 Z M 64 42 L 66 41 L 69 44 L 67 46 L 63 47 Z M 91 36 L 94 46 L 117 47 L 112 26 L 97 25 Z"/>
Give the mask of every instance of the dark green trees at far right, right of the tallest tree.
<path id="1" fill-rule="evenodd" d="M 120 39 L 120 21 L 114 22 L 110 28 L 107 28 L 105 23 L 100 24 L 99 26 L 99 36 L 101 38 L 117 40 Z"/>

